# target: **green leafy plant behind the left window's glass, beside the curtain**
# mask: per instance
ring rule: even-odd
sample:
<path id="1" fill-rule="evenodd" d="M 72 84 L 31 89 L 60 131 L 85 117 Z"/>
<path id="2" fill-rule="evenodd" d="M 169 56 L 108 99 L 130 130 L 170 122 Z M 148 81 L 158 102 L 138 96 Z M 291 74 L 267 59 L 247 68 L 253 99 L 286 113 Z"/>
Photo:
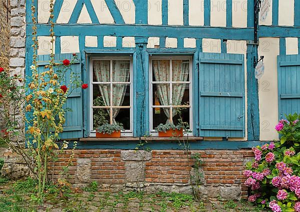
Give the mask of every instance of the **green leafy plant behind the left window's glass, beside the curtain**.
<path id="1" fill-rule="evenodd" d="M 104 106 L 104 101 L 101 96 L 97 96 L 93 100 L 94 106 Z M 93 127 L 96 129 L 103 124 L 107 124 L 107 111 L 103 108 L 97 108 L 93 111 Z"/>

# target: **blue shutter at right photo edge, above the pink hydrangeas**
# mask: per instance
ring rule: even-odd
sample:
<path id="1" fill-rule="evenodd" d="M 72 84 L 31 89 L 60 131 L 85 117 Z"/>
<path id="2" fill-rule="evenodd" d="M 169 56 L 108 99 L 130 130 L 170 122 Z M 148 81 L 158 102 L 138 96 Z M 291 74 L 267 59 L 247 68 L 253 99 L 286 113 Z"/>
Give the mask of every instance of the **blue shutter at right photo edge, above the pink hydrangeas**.
<path id="1" fill-rule="evenodd" d="M 278 110 L 279 119 L 285 114 L 300 113 L 300 54 L 279 55 L 278 65 Z"/>

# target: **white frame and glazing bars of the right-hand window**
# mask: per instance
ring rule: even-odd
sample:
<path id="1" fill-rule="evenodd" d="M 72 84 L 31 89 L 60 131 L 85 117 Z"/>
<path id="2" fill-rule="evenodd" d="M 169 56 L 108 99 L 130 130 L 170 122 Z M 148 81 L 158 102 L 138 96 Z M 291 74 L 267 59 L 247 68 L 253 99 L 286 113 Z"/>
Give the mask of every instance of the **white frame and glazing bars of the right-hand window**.
<path id="1" fill-rule="evenodd" d="M 150 124 L 150 136 L 158 136 L 158 133 L 153 129 L 153 108 L 162 108 L 162 106 L 153 106 L 152 105 L 152 96 L 153 96 L 153 84 L 159 84 L 162 82 L 152 82 L 153 78 L 153 70 L 152 70 L 152 60 L 170 60 L 170 76 L 172 76 L 172 60 L 189 60 L 189 81 L 184 82 L 185 84 L 189 84 L 189 106 L 185 106 L 184 108 L 189 108 L 189 130 L 191 133 L 188 133 L 188 136 L 192 136 L 192 56 L 151 56 L 149 58 L 149 124 Z M 170 85 L 178 83 L 178 81 L 165 81 Z M 165 82 L 163 82 L 165 84 Z M 170 93 L 172 92 L 172 86 L 170 86 Z M 170 95 L 171 97 L 172 95 Z M 164 107 L 174 107 L 171 105 Z M 180 107 L 180 106 L 179 106 Z"/>

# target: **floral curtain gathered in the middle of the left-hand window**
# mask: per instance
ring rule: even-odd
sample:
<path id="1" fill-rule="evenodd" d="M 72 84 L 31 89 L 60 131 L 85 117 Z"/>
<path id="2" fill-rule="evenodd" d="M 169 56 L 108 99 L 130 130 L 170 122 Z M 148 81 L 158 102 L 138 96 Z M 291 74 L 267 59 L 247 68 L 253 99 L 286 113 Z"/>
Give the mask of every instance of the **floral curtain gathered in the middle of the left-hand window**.
<path id="1" fill-rule="evenodd" d="M 110 64 L 109 61 L 94 61 L 93 69 L 98 82 L 110 82 Z M 113 60 L 112 61 L 112 81 L 113 82 L 128 82 L 130 74 L 130 62 L 128 60 Z M 99 90 L 104 101 L 104 106 L 110 106 L 110 84 L 99 84 Z M 121 106 L 124 100 L 127 84 L 112 85 L 112 105 Z M 115 117 L 119 112 L 119 108 L 112 110 L 112 123 L 116 124 Z M 109 114 L 109 109 L 107 109 Z"/>

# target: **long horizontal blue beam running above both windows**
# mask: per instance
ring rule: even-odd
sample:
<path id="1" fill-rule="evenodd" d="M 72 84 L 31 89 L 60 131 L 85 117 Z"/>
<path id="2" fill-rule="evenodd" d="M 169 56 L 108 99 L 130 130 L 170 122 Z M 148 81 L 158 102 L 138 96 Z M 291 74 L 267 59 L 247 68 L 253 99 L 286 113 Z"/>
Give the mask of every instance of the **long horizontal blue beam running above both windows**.
<path id="1" fill-rule="evenodd" d="M 26 32 L 31 33 L 32 24 L 27 24 Z M 50 25 L 37 24 L 37 35 L 48 36 Z M 283 28 L 282 28 L 283 29 Z M 300 27 L 299 27 L 300 29 Z M 133 24 L 55 24 L 57 36 L 142 36 L 142 37 L 193 37 L 232 40 L 251 40 L 252 28 L 222 28 L 207 26 L 158 26 L 158 25 L 133 25 Z M 285 33 L 284 29 L 281 33 Z M 286 34 L 298 34 L 296 28 L 290 28 Z"/>

